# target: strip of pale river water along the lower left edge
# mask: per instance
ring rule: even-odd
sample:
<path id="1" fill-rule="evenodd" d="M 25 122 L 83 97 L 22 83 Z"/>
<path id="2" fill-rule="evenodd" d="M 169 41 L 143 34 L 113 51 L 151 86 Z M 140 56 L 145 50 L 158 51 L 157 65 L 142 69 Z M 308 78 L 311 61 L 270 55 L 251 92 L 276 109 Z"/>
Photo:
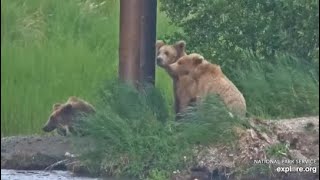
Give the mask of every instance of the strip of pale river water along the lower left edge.
<path id="1" fill-rule="evenodd" d="M 100 178 L 75 177 L 68 171 L 36 171 L 1 169 L 1 180 L 101 180 Z M 111 179 L 109 179 L 111 180 Z"/>

